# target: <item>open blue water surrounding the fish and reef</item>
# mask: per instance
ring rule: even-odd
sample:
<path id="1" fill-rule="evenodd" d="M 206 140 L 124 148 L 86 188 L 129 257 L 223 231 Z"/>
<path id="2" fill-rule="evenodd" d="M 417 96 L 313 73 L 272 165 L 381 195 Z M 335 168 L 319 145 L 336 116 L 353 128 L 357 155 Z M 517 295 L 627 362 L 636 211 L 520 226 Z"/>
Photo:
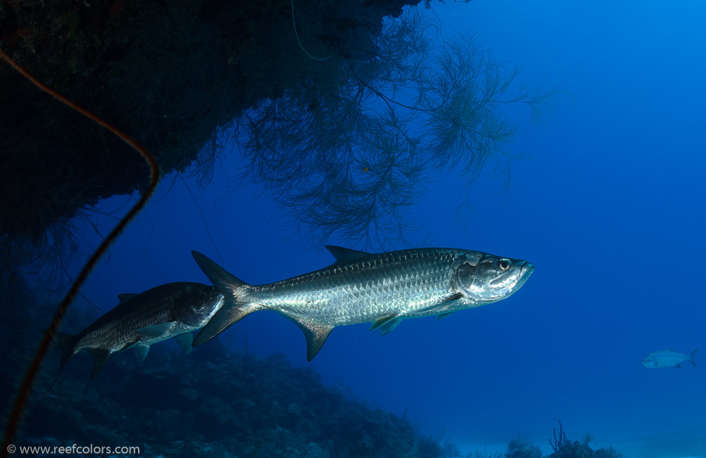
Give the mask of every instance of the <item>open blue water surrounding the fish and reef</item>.
<path id="1" fill-rule="evenodd" d="M 420 6 L 444 35 L 472 30 L 493 55 L 521 64 L 528 85 L 556 83 L 571 96 L 559 99 L 539 133 L 520 135 L 514 149 L 530 158 L 512 163 L 507 190 L 489 169 L 472 188 L 471 217 L 457 224 L 462 177 L 452 174 L 414 207 L 423 229 L 409 239 L 522 258 L 536 270 L 510 299 L 444 320 L 405 320 L 385 337 L 366 324 L 335 329 L 311 363 L 323 379 L 467 448 L 501 450 L 520 433 L 549 452 L 561 419 L 569 438 L 590 431 L 597 445 L 630 456 L 706 453 L 705 5 Z M 331 263 L 323 248 L 308 249 L 282 228 L 277 208 L 253 197 L 258 188 L 226 193 L 238 162 L 237 153 L 226 157 L 230 171 L 217 169 L 206 191 L 188 180 L 227 270 L 257 284 Z M 101 219 L 100 229 L 112 224 Z M 95 234 L 85 234 L 92 246 Z M 221 262 L 177 180 L 121 236 L 83 293 L 110 308 L 119 293 L 208 282 L 192 249 Z M 273 312 L 250 315 L 220 338 L 309 364 L 299 328 Z M 699 366 L 640 363 L 671 347 L 702 348 Z"/>

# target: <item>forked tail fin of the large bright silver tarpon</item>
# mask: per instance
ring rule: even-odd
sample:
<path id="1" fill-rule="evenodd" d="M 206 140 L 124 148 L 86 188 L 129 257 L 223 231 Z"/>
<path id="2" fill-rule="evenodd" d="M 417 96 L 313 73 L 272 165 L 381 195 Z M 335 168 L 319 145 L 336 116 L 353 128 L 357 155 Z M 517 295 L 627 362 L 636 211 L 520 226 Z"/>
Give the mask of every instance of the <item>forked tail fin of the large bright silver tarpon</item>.
<path id="1" fill-rule="evenodd" d="M 197 346 L 213 339 L 213 337 L 225 331 L 233 323 L 242 320 L 246 315 L 254 311 L 263 310 L 264 307 L 258 303 L 239 301 L 242 290 L 247 286 L 246 282 L 229 274 L 223 267 L 198 253 L 198 251 L 192 251 L 191 255 L 196 260 L 198 267 L 201 267 L 203 273 L 213 283 L 215 289 L 220 294 L 223 294 L 224 297 L 223 306 L 194 337 L 192 345 Z"/>

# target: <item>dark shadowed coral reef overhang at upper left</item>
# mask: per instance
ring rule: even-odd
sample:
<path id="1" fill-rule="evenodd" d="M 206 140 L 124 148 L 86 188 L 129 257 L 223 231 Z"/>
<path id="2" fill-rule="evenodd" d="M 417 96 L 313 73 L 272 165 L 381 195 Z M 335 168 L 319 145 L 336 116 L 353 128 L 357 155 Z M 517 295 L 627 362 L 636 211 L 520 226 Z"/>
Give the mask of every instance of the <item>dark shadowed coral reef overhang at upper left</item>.
<path id="1" fill-rule="evenodd" d="M 195 161 L 212 167 L 204 145 L 258 100 L 311 78 L 336 84 L 298 40 L 314 53 L 360 59 L 376 49 L 385 16 L 417 3 L 297 0 L 297 37 L 290 0 L 11 0 L 0 4 L 0 46 L 135 138 L 168 174 Z M 42 243 L 81 208 L 145 186 L 143 160 L 120 140 L 6 64 L 0 80 L 3 253 Z"/>

